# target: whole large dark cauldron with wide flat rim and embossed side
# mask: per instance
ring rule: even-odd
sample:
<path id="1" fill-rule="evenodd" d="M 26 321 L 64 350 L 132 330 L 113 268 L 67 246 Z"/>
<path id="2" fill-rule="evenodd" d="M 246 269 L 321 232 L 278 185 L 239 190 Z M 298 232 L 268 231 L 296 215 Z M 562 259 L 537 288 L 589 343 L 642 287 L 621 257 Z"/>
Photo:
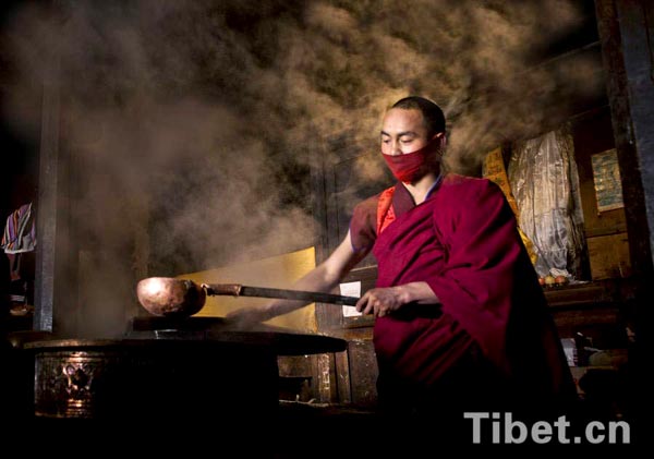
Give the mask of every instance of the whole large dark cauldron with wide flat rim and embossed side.
<path id="1" fill-rule="evenodd" d="M 142 317 L 126 339 L 26 342 L 37 419 L 142 420 L 219 415 L 249 428 L 279 407 L 278 355 L 340 352 L 347 341 L 261 325 L 233 330 L 219 317 Z"/>

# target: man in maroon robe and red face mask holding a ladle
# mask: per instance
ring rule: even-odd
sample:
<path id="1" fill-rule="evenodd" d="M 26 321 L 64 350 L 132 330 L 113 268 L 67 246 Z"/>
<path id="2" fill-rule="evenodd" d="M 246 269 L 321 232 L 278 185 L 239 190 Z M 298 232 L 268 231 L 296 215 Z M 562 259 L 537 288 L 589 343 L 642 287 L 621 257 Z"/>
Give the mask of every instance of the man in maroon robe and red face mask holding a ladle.
<path id="1" fill-rule="evenodd" d="M 380 141 L 398 182 L 356 205 L 340 245 L 294 287 L 330 292 L 373 252 L 376 287 L 356 310 L 376 317 L 378 401 L 389 419 L 554 414 L 576 390 L 505 195 L 489 180 L 443 172 L 446 122 L 428 99 L 397 101 Z M 266 321 L 302 305 L 274 301 L 230 318 Z"/>

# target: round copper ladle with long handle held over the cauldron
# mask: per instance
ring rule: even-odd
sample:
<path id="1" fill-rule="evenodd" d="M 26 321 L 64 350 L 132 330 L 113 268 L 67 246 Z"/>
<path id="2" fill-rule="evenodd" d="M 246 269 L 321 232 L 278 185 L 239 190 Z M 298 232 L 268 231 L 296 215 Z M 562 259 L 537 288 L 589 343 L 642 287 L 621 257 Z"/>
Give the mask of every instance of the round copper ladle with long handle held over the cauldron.
<path id="1" fill-rule="evenodd" d="M 355 305 L 356 297 L 308 292 L 301 290 L 283 290 L 263 287 L 247 287 L 240 283 L 202 283 L 189 279 L 171 277 L 150 277 L 136 286 L 138 302 L 150 314 L 159 316 L 185 317 L 197 313 L 205 304 L 208 295 L 259 297 L 306 302 Z"/>

